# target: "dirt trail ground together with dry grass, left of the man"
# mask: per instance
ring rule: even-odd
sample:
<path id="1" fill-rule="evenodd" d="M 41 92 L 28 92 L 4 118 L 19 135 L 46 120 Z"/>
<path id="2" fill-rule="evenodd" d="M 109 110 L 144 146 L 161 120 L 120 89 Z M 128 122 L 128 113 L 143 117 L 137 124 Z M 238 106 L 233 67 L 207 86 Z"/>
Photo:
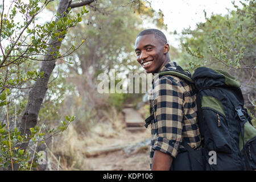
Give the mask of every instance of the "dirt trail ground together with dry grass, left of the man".
<path id="1" fill-rule="evenodd" d="M 129 108 L 125 112 L 107 113 L 87 131 L 80 123 L 70 125 L 54 141 L 52 138 L 47 146 L 49 170 L 150 170 L 150 127 L 143 126 L 142 110 Z M 138 123 L 139 127 L 134 126 Z"/>

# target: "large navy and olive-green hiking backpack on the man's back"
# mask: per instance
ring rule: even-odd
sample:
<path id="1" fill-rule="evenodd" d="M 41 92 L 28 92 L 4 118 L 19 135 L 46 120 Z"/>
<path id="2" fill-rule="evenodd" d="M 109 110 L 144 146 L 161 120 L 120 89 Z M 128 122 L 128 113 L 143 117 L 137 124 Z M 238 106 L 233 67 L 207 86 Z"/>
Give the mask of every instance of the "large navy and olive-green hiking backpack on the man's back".
<path id="1" fill-rule="evenodd" d="M 179 66 L 159 73 L 159 77 L 163 75 L 179 77 L 195 86 L 202 152 L 199 155 L 187 143 L 181 144 L 202 169 L 255 170 L 256 129 L 243 107 L 240 83 L 227 72 L 206 67 L 197 68 L 192 76 Z M 150 119 L 152 116 L 145 120 L 146 125 Z"/>

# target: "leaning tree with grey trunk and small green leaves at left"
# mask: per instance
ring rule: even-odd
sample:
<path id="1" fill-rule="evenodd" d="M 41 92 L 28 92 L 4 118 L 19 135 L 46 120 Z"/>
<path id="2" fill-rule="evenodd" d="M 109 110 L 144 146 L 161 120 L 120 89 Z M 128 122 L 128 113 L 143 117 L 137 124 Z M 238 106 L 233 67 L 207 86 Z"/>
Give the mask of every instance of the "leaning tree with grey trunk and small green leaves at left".
<path id="1" fill-rule="evenodd" d="M 35 23 L 36 16 L 48 5 L 49 1 L 40 3 L 40 0 L 30 0 L 26 4 L 20 0 L 13 1 L 9 10 L 5 11 L 5 1 L 2 2 L 1 13 L 1 106 L 6 102 L 7 97 L 10 97 L 11 90 L 20 89 L 28 80 L 34 80 L 35 84 L 31 88 L 28 96 L 28 104 L 22 117 L 22 125 L 19 128 L 10 132 L 7 112 L 7 126 L 1 125 L 1 135 L 5 138 L 9 135 L 9 142 L 4 140 L 1 146 L 1 162 L 3 166 L 9 169 L 17 170 L 21 162 L 26 162 L 19 155 L 26 154 L 28 140 L 35 139 L 35 134 L 39 132 L 36 128 L 38 114 L 42 105 L 44 96 L 47 91 L 47 84 L 53 69 L 55 68 L 56 59 L 65 57 L 69 53 L 75 51 L 77 47 L 73 45 L 69 52 L 60 54 L 61 42 L 67 34 L 69 27 L 74 27 L 81 22 L 81 15 L 88 13 L 85 7 L 77 14 L 77 17 L 70 18 L 69 14 L 72 8 L 89 5 L 94 2 L 81 1 L 72 3 L 72 1 L 61 0 L 57 10 L 55 20 L 45 23 L 43 26 Z M 41 5 L 41 6 L 40 6 Z M 22 14 L 24 22 L 14 22 L 15 16 Z M 9 40 L 7 46 L 3 46 L 2 42 Z M 44 58 L 42 59 L 42 56 Z M 42 61 L 39 71 L 28 71 L 23 75 L 20 71 L 22 65 L 27 61 Z M 14 78 L 18 77 L 18 78 Z M 7 90 L 7 88 L 9 88 Z M 69 122 L 73 121 L 73 117 L 66 117 L 68 123 L 63 122 L 59 127 L 60 131 L 67 128 Z M 22 134 L 22 135 L 20 135 Z M 40 137 L 43 136 L 43 134 Z M 12 139 L 12 140 L 11 140 Z M 13 146 L 12 146 L 13 145 Z M 13 154 L 12 154 L 13 150 Z M 10 158 L 8 157 L 10 156 Z M 21 159 L 21 160 L 20 160 Z M 13 164 L 14 160 L 14 164 Z"/>

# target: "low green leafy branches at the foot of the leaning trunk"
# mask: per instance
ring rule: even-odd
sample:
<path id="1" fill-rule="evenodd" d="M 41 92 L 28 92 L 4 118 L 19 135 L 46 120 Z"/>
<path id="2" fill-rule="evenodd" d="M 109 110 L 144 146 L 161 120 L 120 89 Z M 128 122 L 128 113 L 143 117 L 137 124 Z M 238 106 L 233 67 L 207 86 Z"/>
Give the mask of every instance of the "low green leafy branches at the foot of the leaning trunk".
<path id="1" fill-rule="evenodd" d="M 56 135 L 65 131 L 68 125 L 75 120 L 75 117 L 66 116 L 65 121 L 61 121 L 58 129 L 49 130 L 48 133 Z M 6 124 L 0 124 L 0 167 L 8 169 L 9 164 L 19 163 L 19 170 L 29 170 L 31 165 L 36 166 L 36 160 L 31 164 L 31 151 L 20 149 L 22 143 L 44 143 L 45 133 L 40 131 L 40 127 L 30 128 L 31 134 L 29 136 L 23 135 L 15 128 L 10 131 L 9 140 L 9 130 L 6 129 Z M 39 157 L 39 156 L 38 156 Z"/>

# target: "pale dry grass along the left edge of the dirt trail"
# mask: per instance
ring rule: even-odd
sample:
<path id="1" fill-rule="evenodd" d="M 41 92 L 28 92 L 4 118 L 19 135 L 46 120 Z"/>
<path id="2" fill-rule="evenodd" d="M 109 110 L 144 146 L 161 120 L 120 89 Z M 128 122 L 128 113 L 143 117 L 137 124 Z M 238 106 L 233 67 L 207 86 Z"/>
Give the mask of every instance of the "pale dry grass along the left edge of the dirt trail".
<path id="1" fill-rule="evenodd" d="M 106 138 L 114 138 L 118 135 L 118 131 L 122 130 L 126 125 L 123 122 L 123 116 L 114 108 L 109 113 L 105 113 L 104 119 L 94 122 L 86 133 L 77 130 L 75 123 L 72 123 L 63 134 L 55 137 L 53 143 L 52 166 L 56 170 L 57 160 L 60 156 L 60 170 L 87 170 L 85 151 L 91 146 L 100 147 L 105 143 Z M 82 126 L 80 126 L 82 127 Z M 110 143 L 111 144 L 111 143 Z M 51 147 L 48 147 L 51 149 Z"/>

